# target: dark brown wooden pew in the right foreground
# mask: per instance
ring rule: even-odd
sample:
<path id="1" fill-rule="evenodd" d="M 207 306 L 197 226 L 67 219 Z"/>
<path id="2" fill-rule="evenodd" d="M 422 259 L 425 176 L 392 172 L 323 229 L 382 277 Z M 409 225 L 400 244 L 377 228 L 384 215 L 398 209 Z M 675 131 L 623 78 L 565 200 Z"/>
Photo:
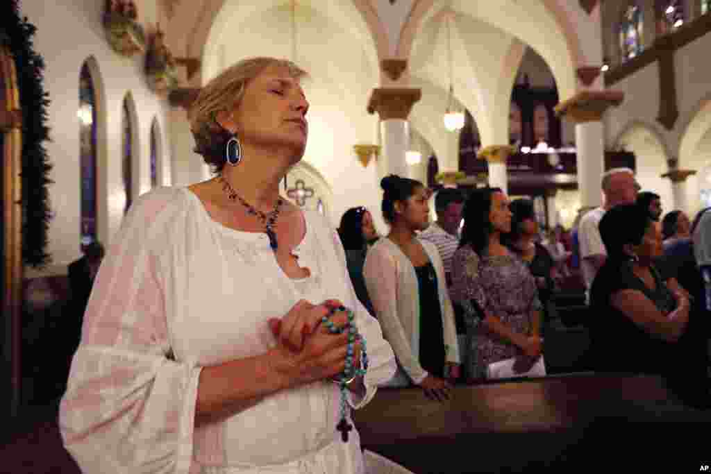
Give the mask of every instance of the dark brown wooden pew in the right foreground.
<path id="1" fill-rule="evenodd" d="M 711 413 L 684 406 L 653 376 L 461 386 L 442 403 L 417 388 L 380 389 L 353 416 L 363 448 L 418 474 L 588 470 L 604 468 L 609 456 L 618 467 L 674 460 L 682 472 L 711 459 Z"/>

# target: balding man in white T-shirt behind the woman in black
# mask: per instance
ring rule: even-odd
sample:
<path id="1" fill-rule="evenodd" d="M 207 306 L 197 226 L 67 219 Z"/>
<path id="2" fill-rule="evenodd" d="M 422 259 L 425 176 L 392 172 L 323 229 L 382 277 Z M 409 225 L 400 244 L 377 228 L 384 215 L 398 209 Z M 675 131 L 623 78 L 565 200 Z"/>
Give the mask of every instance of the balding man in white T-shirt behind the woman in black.
<path id="1" fill-rule="evenodd" d="M 598 225 L 605 212 L 619 204 L 634 204 L 639 185 L 634 179 L 634 171 L 630 168 L 612 168 L 602 174 L 602 193 L 604 203 L 601 208 L 595 208 L 580 220 L 578 239 L 580 247 L 580 267 L 587 292 L 597 271 L 605 263 L 607 252 L 600 237 Z"/>

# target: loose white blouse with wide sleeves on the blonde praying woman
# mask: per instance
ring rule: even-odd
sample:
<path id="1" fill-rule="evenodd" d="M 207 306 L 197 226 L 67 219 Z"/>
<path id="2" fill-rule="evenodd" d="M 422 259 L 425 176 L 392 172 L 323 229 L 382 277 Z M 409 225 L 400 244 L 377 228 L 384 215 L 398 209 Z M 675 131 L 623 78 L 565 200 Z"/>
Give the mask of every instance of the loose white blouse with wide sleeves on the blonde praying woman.
<path id="1" fill-rule="evenodd" d="M 276 344 L 267 320 L 302 298 L 337 298 L 355 310 L 370 367 L 365 397 L 351 406 L 394 374 L 338 235 L 318 213 L 304 217 L 294 252 L 311 276 L 293 280 L 265 234 L 220 225 L 187 188 L 137 200 L 97 275 L 60 406 L 65 447 L 83 471 L 363 472 L 358 434 L 343 443 L 336 431 L 340 391 L 331 382 L 277 392 L 194 428 L 201 367 L 267 352 Z"/>

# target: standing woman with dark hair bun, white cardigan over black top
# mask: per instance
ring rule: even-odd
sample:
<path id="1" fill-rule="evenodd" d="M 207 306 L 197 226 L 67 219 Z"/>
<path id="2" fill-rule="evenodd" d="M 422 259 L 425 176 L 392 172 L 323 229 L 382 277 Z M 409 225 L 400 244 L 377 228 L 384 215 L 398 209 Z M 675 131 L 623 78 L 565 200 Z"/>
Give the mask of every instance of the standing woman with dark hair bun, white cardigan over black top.
<path id="1" fill-rule="evenodd" d="M 365 284 L 383 335 L 398 362 L 397 387 L 410 384 L 427 397 L 449 398 L 447 378 L 459 377 L 459 347 L 444 267 L 437 247 L 416 232 L 429 224 L 429 190 L 419 181 L 390 175 L 383 188 L 383 217 L 390 234 L 365 258 Z"/>

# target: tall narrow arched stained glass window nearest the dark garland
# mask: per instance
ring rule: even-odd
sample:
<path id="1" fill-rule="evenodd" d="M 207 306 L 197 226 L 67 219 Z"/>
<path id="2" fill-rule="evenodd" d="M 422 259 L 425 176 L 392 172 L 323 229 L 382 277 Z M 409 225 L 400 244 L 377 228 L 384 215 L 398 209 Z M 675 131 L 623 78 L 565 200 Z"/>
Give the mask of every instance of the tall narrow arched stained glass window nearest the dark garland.
<path id="1" fill-rule="evenodd" d="M 94 81 L 87 63 L 79 75 L 79 162 L 81 168 L 80 247 L 97 239 L 96 225 L 96 102 Z"/>

